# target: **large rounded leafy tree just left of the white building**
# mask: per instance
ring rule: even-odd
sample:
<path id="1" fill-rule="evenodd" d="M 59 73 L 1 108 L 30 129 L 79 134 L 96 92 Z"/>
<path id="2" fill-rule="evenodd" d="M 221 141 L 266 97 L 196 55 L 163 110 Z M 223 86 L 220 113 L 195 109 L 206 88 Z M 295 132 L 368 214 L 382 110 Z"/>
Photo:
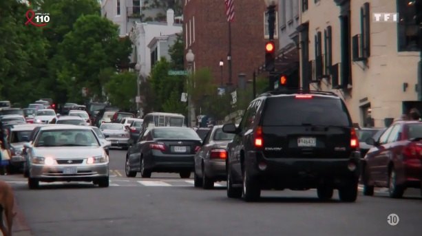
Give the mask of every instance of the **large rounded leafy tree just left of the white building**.
<path id="1" fill-rule="evenodd" d="M 80 98 L 77 94 L 82 87 L 101 97 L 105 81 L 98 75 L 104 68 L 127 63 L 130 53 L 131 42 L 119 38 L 117 25 L 98 15 L 83 15 L 59 45 L 59 82 L 72 84 L 67 90 L 72 98 Z"/>

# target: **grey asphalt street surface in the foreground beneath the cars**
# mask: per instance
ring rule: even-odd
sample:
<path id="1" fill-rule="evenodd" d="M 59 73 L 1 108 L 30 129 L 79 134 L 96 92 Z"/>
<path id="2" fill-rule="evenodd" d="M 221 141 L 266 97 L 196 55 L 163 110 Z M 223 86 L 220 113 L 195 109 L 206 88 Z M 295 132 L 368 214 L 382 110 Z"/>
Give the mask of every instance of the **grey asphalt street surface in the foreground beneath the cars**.
<path id="1" fill-rule="evenodd" d="M 1 176 L 14 188 L 14 235 L 420 235 L 419 190 L 403 199 L 359 193 L 357 202 L 317 199 L 317 192 L 264 191 L 261 202 L 226 197 L 225 182 L 195 189 L 193 178 L 153 173 L 125 177 L 125 151 L 110 151 L 110 186 L 41 183 L 29 190 L 23 175 Z M 193 174 L 191 175 L 193 177 Z M 147 181 L 145 181 L 147 180 Z M 390 226 L 388 215 L 399 216 Z"/>

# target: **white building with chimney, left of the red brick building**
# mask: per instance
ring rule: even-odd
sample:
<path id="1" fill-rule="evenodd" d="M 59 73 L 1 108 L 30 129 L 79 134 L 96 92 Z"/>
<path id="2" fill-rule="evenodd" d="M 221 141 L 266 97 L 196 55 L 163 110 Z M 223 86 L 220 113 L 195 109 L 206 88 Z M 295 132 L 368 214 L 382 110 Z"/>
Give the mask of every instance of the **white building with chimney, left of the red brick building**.
<path id="1" fill-rule="evenodd" d="M 167 10 L 167 23 L 148 22 L 136 23 L 131 30 L 130 38 L 134 43 L 134 55 L 132 62 L 140 65 L 140 76 L 144 79 L 151 72 L 151 49 L 149 43 L 159 36 L 179 34 L 182 32 L 182 25 L 174 23 L 174 11 Z"/>

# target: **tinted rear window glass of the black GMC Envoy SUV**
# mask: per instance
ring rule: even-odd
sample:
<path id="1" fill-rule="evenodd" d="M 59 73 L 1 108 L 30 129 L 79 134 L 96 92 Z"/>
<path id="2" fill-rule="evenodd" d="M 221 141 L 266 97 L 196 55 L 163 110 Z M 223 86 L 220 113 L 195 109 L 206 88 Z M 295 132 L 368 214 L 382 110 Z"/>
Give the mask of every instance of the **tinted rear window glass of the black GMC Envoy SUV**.
<path id="1" fill-rule="evenodd" d="M 313 98 L 288 96 L 266 100 L 262 125 L 304 124 L 352 127 L 347 108 L 339 99 L 321 96 L 313 96 Z"/>

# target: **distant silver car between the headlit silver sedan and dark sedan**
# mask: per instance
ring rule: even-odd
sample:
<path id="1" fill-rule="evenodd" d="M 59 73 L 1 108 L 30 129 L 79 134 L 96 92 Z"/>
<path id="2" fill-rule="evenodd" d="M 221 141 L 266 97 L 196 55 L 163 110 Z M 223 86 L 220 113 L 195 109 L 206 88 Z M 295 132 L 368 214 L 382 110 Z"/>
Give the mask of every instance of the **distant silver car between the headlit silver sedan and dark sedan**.
<path id="1" fill-rule="evenodd" d="M 129 131 L 122 124 L 116 123 L 103 123 L 100 126 L 101 131 L 104 133 L 105 139 L 112 142 L 112 147 L 129 147 Z"/>

